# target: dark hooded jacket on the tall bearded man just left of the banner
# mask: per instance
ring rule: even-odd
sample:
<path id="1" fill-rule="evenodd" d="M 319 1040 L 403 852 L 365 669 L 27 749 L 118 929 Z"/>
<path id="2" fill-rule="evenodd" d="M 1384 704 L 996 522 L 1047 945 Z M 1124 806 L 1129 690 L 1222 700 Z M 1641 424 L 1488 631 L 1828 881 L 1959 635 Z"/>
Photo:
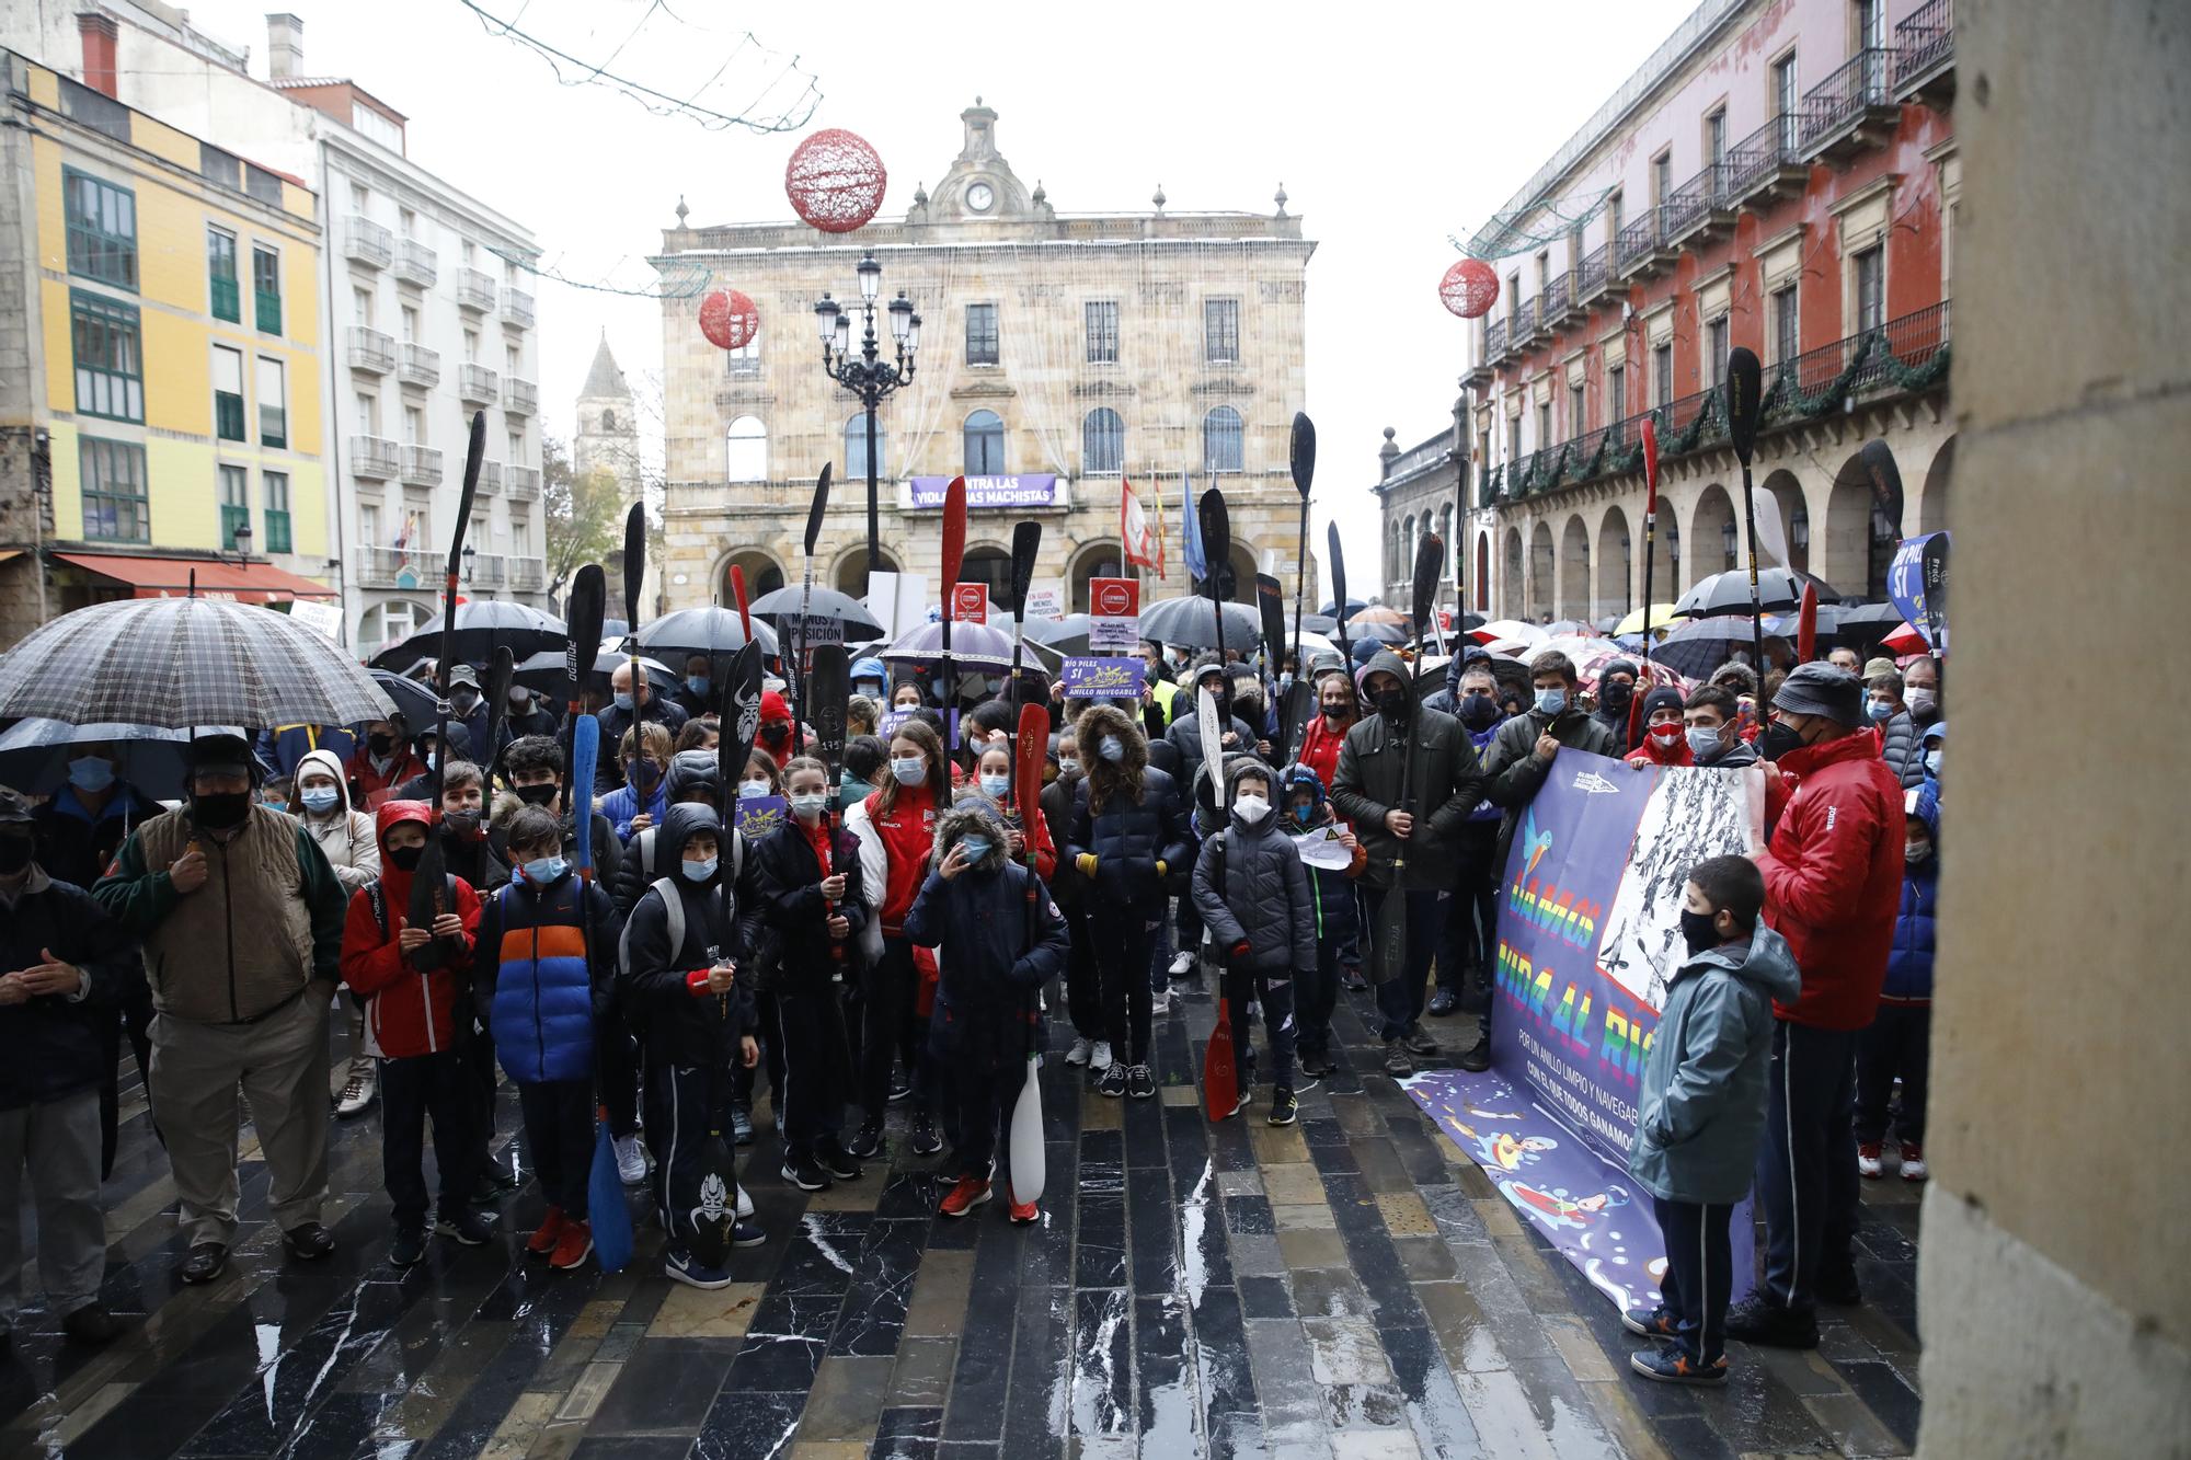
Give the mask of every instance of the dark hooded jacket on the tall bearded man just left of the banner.
<path id="1" fill-rule="evenodd" d="M 1363 666 L 1363 680 L 1389 673 L 1415 697 L 1407 664 L 1391 649 L 1380 649 Z M 1407 796 L 1400 796 L 1402 750 L 1413 750 Z M 1332 809 L 1339 811 L 1369 853 L 1363 881 L 1374 888 L 1393 886 L 1393 862 L 1400 837 L 1385 829 L 1387 811 L 1409 811 L 1415 818 L 1407 840 L 1407 868 L 1400 886 L 1411 890 L 1450 888 L 1461 875 L 1461 829 L 1468 813 L 1483 800 L 1483 769 L 1477 748 L 1461 721 L 1422 704 L 1413 704 L 1404 728 L 1393 728 L 1383 715 L 1356 723 L 1339 748 L 1339 772 L 1332 776 Z"/>

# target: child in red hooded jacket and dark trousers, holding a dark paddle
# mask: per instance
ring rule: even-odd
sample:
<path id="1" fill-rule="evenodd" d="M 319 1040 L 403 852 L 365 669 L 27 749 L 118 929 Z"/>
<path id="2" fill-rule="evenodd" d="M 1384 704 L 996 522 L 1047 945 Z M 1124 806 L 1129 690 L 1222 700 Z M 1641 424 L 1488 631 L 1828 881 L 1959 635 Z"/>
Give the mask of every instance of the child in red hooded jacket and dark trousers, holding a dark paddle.
<path id="1" fill-rule="evenodd" d="M 414 1267 L 425 1258 L 425 1122 L 434 1120 L 440 1166 L 440 1230 L 480 1247 L 486 1221 L 471 1210 L 480 1173 L 473 1131 L 475 1100 L 458 1048 L 471 1002 L 460 984 L 471 973 L 480 899 L 460 877 L 447 879 L 445 912 L 432 927 L 410 925 L 412 870 L 425 855 L 432 807 L 386 800 L 375 813 L 381 875 L 351 894 L 342 929 L 342 982 L 366 1000 L 366 1024 L 381 1052 L 381 1184 L 394 1204 L 397 1236 L 388 1261 Z M 462 1024 L 460 1024 L 462 1019 Z"/>

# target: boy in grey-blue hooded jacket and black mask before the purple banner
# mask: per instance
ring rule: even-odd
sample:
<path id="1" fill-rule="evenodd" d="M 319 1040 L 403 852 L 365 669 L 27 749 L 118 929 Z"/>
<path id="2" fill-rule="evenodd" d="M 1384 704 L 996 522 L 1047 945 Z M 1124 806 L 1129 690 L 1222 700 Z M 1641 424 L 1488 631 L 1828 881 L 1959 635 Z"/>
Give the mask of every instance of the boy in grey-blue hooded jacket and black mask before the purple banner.
<path id="1" fill-rule="evenodd" d="M 1748 857 L 1689 868 L 1680 936 L 1689 956 L 1667 982 L 1643 1063 L 1628 1173 L 1652 1195 L 1665 1278 L 1632 1333 L 1663 1339 L 1628 1364 L 1663 1383 L 1727 1383 L 1727 1300 L 1735 1280 L 1729 1217 L 1751 1193 L 1766 1122 L 1773 1000 L 1794 1004 L 1788 943 L 1759 921 L 1764 875 Z"/>

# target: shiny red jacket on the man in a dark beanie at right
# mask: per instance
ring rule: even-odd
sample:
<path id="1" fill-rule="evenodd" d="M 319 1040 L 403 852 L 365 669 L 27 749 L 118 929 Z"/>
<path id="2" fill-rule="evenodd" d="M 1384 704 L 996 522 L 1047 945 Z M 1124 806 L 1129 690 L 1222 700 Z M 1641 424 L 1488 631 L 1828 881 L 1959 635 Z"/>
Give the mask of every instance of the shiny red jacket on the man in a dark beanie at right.
<path id="1" fill-rule="evenodd" d="M 1858 1030 L 1878 1013 L 1902 908 L 1902 783 L 1869 734 L 1790 750 L 1779 767 L 1801 780 L 1757 868 L 1766 923 L 1788 938 L 1803 995 L 1773 1013 Z"/>

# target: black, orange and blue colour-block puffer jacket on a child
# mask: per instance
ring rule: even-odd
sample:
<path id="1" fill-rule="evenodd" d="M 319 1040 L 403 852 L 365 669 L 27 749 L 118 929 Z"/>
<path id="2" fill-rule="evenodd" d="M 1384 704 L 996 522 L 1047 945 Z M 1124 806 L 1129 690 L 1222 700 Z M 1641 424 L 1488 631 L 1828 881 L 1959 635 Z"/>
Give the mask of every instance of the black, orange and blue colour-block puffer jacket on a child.
<path id="1" fill-rule="evenodd" d="M 616 960 L 609 894 L 574 872 L 543 888 L 519 877 L 489 894 L 475 947 L 475 978 L 491 978 L 480 1004 L 511 1079 L 524 1085 L 594 1079 L 594 1015 Z"/>

